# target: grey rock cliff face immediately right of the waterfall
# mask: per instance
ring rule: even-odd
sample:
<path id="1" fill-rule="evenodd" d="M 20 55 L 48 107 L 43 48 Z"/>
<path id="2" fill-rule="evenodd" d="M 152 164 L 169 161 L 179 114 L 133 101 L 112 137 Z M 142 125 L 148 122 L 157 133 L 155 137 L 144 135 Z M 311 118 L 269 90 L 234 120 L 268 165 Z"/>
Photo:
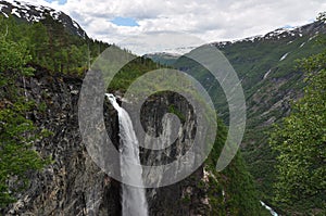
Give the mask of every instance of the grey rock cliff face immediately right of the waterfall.
<path id="1" fill-rule="evenodd" d="M 164 124 L 163 116 L 173 112 L 172 110 L 175 111 L 174 114 L 178 115 L 181 122 L 179 136 L 172 145 L 164 150 L 142 151 L 141 156 L 147 165 L 172 163 L 191 148 L 191 141 L 195 139 L 197 129 L 196 116 L 192 106 L 177 93 L 161 92 L 147 100 L 141 110 L 141 122 L 145 129 L 153 136 L 159 136 Z M 172 129 L 176 130 L 175 128 Z M 193 161 L 189 160 L 189 163 Z M 167 187 L 149 189 L 150 215 L 208 215 L 210 206 L 205 190 L 198 187 L 202 178 L 203 167 L 201 166 L 183 181 Z M 166 179 L 163 177 L 163 180 Z"/>

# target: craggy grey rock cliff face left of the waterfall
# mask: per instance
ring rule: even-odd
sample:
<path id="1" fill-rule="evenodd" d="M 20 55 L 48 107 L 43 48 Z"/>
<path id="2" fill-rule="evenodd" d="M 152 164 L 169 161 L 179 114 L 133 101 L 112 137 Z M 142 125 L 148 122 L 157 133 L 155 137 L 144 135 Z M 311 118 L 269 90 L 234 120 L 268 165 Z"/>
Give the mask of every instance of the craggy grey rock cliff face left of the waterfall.
<path id="1" fill-rule="evenodd" d="M 30 174 L 30 187 L 18 195 L 8 215 L 118 215 L 120 183 L 91 161 L 79 135 L 80 86 L 78 78 L 51 76 L 43 69 L 26 79 L 28 100 L 47 106 L 42 113 L 30 113 L 29 118 L 53 132 L 37 143 L 37 150 L 53 163 Z M 116 140 L 114 124 L 112 120 L 108 130 Z"/>

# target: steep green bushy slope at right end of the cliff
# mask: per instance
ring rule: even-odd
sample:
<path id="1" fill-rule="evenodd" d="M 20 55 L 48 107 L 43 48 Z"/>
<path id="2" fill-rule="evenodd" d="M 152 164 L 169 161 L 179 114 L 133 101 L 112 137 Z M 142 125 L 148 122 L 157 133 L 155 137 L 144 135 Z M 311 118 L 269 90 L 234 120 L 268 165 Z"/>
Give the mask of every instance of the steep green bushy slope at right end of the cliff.
<path id="1" fill-rule="evenodd" d="M 209 215 L 269 215 L 259 202 L 253 178 L 240 153 L 223 171 L 216 171 L 215 166 L 227 135 L 222 120 L 218 120 L 217 127 L 217 138 L 204 168 L 210 182 L 206 193 L 212 209 Z"/>

